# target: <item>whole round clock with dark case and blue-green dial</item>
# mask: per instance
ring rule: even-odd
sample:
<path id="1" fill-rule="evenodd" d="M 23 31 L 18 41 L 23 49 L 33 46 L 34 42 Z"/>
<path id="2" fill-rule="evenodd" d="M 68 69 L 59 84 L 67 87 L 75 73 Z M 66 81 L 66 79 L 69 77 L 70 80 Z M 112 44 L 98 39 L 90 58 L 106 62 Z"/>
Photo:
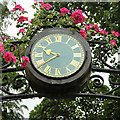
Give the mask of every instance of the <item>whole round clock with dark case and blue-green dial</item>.
<path id="1" fill-rule="evenodd" d="M 31 86 L 45 95 L 78 92 L 90 74 L 91 52 L 77 32 L 50 28 L 34 36 L 26 55 Z"/>

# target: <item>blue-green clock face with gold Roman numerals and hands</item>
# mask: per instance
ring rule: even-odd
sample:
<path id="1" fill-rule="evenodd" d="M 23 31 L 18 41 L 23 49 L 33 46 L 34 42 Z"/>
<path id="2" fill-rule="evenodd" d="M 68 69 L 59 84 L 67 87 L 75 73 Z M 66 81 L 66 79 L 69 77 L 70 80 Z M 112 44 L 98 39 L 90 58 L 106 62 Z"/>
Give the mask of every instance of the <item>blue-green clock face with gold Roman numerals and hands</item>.
<path id="1" fill-rule="evenodd" d="M 50 34 L 37 40 L 31 49 L 34 67 L 49 77 L 67 77 L 78 71 L 85 60 L 83 46 L 66 34 Z"/>

